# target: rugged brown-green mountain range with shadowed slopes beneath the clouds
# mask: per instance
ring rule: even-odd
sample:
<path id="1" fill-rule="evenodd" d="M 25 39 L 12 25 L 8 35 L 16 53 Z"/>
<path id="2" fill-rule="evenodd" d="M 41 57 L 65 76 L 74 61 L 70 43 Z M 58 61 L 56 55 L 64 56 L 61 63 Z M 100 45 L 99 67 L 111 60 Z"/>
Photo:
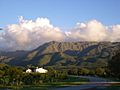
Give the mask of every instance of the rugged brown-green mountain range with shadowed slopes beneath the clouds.
<path id="1" fill-rule="evenodd" d="M 119 49 L 119 42 L 51 41 L 31 51 L 1 51 L 0 63 L 15 66 L 105 67 Z"/>

